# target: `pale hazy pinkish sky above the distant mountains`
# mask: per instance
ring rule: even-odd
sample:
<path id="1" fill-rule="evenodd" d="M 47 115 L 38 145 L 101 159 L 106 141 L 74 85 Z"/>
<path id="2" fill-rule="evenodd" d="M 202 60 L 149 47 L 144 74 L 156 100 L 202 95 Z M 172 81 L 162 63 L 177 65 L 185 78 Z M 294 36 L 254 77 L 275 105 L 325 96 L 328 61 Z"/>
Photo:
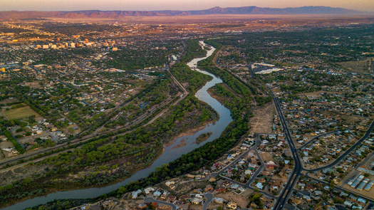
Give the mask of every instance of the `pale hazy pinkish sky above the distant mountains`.
<path id="1" fill-rule="evenodd" d="M 0 0 L 0 11 L 198 10 L 214 6 L 332 6 L 374 11 L 374 0 Z"/>

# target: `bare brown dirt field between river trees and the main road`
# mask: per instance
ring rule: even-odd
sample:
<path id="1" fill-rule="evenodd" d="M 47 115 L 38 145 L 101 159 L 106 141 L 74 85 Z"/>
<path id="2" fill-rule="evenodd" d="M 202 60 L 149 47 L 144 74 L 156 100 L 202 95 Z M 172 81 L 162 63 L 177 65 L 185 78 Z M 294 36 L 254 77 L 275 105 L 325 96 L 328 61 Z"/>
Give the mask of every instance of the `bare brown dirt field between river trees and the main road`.
<path id="1" fill-rule="evenodd" d="M 251 129 L 249 132 L 271 133 L 273 130 L 273 117 L 276 115 L 274 103 L 254 110 L 254 117 L 249 119 Z"/>

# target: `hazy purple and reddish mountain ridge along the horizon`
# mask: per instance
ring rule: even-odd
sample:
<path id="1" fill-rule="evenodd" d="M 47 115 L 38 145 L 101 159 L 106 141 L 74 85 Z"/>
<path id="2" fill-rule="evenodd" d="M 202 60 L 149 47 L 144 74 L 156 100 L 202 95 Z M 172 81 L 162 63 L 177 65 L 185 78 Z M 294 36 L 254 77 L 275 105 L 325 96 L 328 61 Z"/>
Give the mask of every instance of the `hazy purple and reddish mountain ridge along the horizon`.
<path id="1" fill-rule="evenodd" d="M 363 14 L 362 11 L 333 8 L 328 6 L 302 6 L 288 8 L 264 8 L 258 6 L 226 7 L 216 6 L 211 9 L 178 11 L 0 11 L 0 19 L 120 19 L 122 16 L 190 16 L 209 14 Z"/>

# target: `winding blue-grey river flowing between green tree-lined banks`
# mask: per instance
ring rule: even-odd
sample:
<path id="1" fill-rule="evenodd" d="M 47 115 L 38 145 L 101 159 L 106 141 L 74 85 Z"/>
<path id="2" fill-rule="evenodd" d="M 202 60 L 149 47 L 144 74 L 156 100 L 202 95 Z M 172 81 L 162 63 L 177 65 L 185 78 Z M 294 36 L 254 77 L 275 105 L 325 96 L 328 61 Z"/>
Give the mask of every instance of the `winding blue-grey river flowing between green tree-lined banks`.
<path id="1" fill-rule="evenodd" d="M 204 42 L 200 41 L 200 44 L 202 46 L 206 46 Z M 95 198 L 97 196 L 100 196 L 102 194 L 109 193 L 110 191 L 114 191 L 121 186 L 128 184 L 129 182 L 134 182 L 137 179 L 141 179 L 144 177 L 147 177 L 150 172 L 154 172 L 156 167 L 162 166 L 162 164 L 167 164 L 169 162 L 172 162 L 173 160 L 177 159 L 178 157 L 181 157 L 182 154 L 187 154 L 188 152 L 192 151 L 193 149 L 197 147 L 201 147 L 207 142 L 212 142 L 213 140 L 217 139 L 224 129 L 229 125 L 230 122 L 232 122 L 231 112 L 224 107 L 224 105 L 220 104 L 217 100 L 212 98 L 211 95 L 207 92 L 209 88 L 212 88 L 217 83 L 222 83 L 222 80 L 220 78 L 217 78 L 215 75 L 208 73 L 204 70 L 197 69 L 197 62 L 202 61 L 203 59 L 212 56 L 212 53 L 214 53 L 215 48 L 211 48 L 209 51 L 207 51 L 207 56 L 204 58 L 195 58 L 187 65 L 189 68 L 192 68 L 194 70 L 199 71 L 200 73 L 204 73 L 207 75 L 212 76 L 212 80 L 207 82 L 200 90 L 197 91 L 195 96 L 199 98 L 199 100 L 202 100 L 203 102 L 210 105 L 216 112 L 219 114 L 219 120 L 217 122 L 212 122 L 209 125 L 206 125 L 204 129 L 195 132 L 194 135 L 189 135 L 185 137 L 179 137 L 175 140 L 172 140 L 172 144 L 165 145 L 165 152 L 161 154 L 160 157 L 158 157 L 155 162 L 153 162 L 150 167 L 147 167 L 146 169 L 142 169 L 135 174 L 133 174 L 128 179 L 123 180 L 122 182 L 118 182 L 116 184 L 111 184 L 107 187 L 93 187 L 88 189 L 76 189 L 76 190 L 70 190 L 70 191 L 58 191 L 55 193 L 47 194 L 45 196 L 38 196 L 33 199 L 28 199 L 26 201 L 21 201 L 18 204 L 14 204 L 13 206 L 8 206 L 4 209 L 10 210 L 10 209 L 26 209 L 28 207 L 37 206 L 40 204 L 46 204 L 48 201 L 53 201 L 55 199 L 89 199 L 89 198 Z M 212 132 L 212 135 L 205 140 L 204 142 L 199 143 L 198 145 L 195 142 L 196 138 L 207 132 Z M 177 146 L 177 147 L 176 147 Z"/>

